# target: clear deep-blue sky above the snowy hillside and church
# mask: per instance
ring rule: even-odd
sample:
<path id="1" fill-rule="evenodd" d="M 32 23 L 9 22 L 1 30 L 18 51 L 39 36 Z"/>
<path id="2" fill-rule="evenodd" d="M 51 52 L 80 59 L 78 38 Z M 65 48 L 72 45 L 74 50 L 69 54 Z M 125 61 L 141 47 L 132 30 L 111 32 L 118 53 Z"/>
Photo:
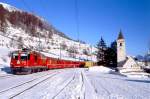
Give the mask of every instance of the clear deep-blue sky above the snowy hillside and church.
<path id="1" fill-rule="evenodd" d="M 46 19 L 78 39 L 75 0 L 0 0 Z M 25 1 L 25 2 L 23 2 Z M 150 0 L 77 0 L 79 39 L 95 45 L 102 36 L 114 41 L 120 29 L 129 55 L 145 54 L 150 45 Z"/>

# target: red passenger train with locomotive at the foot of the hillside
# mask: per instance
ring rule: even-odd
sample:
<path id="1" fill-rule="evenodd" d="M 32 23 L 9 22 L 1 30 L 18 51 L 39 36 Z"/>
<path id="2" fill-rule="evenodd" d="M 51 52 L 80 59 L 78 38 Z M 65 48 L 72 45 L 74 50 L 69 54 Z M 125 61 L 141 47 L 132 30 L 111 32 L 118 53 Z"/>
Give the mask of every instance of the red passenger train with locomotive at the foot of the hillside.
<path id="1" fill-rule="evenodd" d="M 52 58 L 28 49 L 13 52 L 10 63 L 14 74 L 29 74 L 56 68 L 83 67 L 84 65 L 83 61 Z"/>

